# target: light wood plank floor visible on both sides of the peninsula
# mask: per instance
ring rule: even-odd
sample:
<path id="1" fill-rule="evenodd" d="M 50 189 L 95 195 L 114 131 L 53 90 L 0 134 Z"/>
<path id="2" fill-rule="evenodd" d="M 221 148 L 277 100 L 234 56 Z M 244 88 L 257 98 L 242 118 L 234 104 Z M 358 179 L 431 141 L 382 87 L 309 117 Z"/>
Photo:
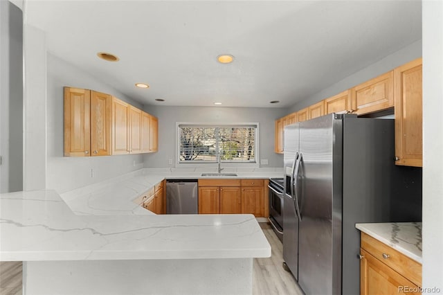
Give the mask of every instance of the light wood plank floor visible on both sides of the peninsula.
<path id="1" fill-rule="evenodd" d="M 303 294 L 293 276 L 282 268 L 283 246 L 269 224 L 260 223 L 271 244 L 270 258 L 256 258 L 253 262 L 254 295 Z M 21 262 L 0 262 L 0 295 L 21 294 Z"/>

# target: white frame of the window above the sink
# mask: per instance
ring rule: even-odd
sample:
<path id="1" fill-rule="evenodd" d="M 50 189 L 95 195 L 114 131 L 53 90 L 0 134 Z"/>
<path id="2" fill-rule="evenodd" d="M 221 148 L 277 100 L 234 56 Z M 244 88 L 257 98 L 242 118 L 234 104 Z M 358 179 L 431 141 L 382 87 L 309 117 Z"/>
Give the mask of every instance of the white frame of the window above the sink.
<path id="1" fill-rule="evenodd" d="M 176 168 L 216 168 L 218 166 L 217 162 L 195 162 L 189 161 L 189 163 L 184 163 L 180 161 L 180 125 L 190 125 L 195 127 L 241 127 L 245 125 L 255 126 L 255 162 L 224 162 L 221 161 L 221 166 L 223 168 L 259 168 L 260 167 L 260 157 L 259 157 L 259 138 L 260 138 L 260 127 L 258 122 L 230 122 L 230 123 L 206 123 L 206 122 L 176 122 L 175 123 L 175 167 Z"/>

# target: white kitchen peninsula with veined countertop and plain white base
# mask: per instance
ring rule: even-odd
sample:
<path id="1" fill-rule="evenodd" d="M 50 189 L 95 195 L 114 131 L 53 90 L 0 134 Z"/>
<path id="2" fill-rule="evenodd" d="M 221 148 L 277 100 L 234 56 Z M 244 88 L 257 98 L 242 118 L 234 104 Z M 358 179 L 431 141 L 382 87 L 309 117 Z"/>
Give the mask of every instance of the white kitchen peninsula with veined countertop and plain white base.
<path id="1" fill-rule="evenodd" d="M 1 195 L 1 260 L 24 261 L 24 294 L 251 294 L 253 258 L 271 256 L 255 217 L 154 215 L 132 202 L 164 177 L 129 173 L 78 189 L 89 197 L 77 201 Z"/>

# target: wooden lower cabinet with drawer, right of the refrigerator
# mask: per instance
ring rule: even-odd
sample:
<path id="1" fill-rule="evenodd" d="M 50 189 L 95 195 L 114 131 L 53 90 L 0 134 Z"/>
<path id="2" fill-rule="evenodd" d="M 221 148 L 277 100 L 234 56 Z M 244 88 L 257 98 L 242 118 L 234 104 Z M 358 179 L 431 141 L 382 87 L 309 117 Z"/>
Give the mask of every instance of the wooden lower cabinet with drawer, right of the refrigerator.
<path id="1" fill-rule="evenodd" d="M 422 265 L 361 233 L 360 294 L 421 294 Z"/>

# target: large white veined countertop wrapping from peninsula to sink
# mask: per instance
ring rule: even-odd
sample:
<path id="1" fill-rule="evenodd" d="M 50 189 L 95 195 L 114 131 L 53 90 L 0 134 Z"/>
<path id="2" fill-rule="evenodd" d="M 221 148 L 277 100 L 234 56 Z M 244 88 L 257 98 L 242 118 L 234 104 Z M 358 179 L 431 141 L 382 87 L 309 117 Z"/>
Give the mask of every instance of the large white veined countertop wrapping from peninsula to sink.
<path id="1" fill-rule="evenodd" d="M 281 177 L 282 172 L 237 174 L 269 178 Z M 196 170 L 142 169 L 62 194 L 0 194 L 0 260 L 271 256 L 271 246 L 253 215 L 155 215 L 133 202 L 165 178 L 200 177 Z"/>

